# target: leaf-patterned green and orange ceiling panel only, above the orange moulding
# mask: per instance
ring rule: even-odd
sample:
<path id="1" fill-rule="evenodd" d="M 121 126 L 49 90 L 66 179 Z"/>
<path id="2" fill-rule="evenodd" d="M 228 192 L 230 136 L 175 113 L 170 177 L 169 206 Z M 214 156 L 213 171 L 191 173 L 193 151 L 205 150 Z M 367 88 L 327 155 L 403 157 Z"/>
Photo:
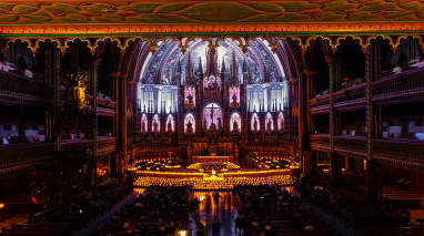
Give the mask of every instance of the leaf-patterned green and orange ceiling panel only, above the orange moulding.
<path id="1" fill-rule="evenodd" d="M 0 1 L 0 24 L 424 21 L 421 0 Z"/>

